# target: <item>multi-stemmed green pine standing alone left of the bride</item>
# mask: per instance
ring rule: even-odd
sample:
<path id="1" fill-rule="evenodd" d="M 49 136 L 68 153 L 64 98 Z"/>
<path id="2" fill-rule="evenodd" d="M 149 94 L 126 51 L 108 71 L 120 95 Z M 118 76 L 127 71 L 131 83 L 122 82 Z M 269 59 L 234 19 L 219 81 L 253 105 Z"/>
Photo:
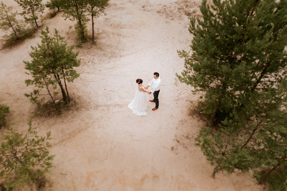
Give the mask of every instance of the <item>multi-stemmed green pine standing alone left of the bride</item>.
<path id="1" fill-rule="evenodd" d="M 30 71 L 33 79 L 25 80 L 26 85 L 35 85 L 39 89 L 35 89 L 30 94 L 32 102 L 40 102 L 40 90 L 45 88 L 48 91 L 52 101 L 55 103 L 52 91 L 58 87 L 61 89 L 63 101 L 70 103 L 67 82 L 79 77 L 79 74 L 73 69 L 80 65 L 77 59 L 79 52 L 73 52 L 74 46 L 68 46 L 64 37 L 58 34 L 55 29 L 53 37 L 49 36 L 49 28 L 41 32 L 41 44 L 38 47 L 31 47 L 30 56 L 32 61 L 24 61 L 25 69 Z M 63 84 L 64 83 L 64 84 Z"/>

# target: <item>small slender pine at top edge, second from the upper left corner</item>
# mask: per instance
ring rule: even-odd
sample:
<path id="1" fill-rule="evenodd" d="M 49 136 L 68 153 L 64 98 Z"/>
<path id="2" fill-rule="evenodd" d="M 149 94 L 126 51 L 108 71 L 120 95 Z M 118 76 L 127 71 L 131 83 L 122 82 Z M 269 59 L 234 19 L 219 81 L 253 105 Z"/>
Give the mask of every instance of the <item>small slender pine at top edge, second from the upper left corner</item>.
<path id="1" fill-rule="evenodd" d="M 45 5 L 42 4 L 42 0 L 14 0 L 22 8 L 23 12 L 21 15 L 24 16 L 26 22 L 31 24 L 31 26 L 36 26 L 38 28 L 38 14 L 44 13 Z"/>

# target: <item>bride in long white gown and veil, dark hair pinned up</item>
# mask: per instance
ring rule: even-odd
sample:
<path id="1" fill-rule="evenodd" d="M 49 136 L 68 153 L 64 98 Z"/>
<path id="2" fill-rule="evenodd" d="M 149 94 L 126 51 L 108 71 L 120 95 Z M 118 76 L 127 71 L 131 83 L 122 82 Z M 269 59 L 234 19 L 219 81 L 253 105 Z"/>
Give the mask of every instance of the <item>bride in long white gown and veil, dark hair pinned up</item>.
<path id="1" fill-rule="evenodd" d="M 144 92 L 151 94 L 150 91 L 146 91 L 144 86 L 142 85 L 143 80 L 137 79 L 135 81 L 137 84 L 135 85 L 135 97 L 129 103 L 128 108 L 133 111 L 133 114 L 138 116 L 146 115 L 147 113 L 147 103 L 146 103 L 146 95 Z"/>

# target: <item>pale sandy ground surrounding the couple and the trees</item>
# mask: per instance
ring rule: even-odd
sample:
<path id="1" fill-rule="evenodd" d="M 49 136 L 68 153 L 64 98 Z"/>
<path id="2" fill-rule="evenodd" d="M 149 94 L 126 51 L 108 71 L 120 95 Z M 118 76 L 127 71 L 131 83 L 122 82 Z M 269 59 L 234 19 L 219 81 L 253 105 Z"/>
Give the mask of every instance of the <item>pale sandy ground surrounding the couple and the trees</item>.
<path id="1" fill-rule="evenodd" d="M 3 3 L 21 10 L 12 0 Z M 51 32 L 57 28 L 68 44 L 77 44 L 75 30 L 69 30 L 74 23 L 58 13 L 33 38 L 1 49 L 0 103 L 10 107 L 8 124 L 25 132 L 32 117 L 40 135 L 51 131 L 55 158 L 43 190 L 263 190 L 251 173 L 220 172 L 212 179 L 213 167 L 194 146 L 205 124 L 191 111 L 199 96 L 175 73 L 184 63 L 176 50 L 189 50 L 192 39 L 187 15 L 200 16 L 199 4 L 110 0 L 106 15 L 95 23 L 97 44 L 75 47 L 82 60 L 80 77 L 68 84 L 75 107 L 61 116 L 34 114 L 35 106 L 23 95 L 33 89 L 24 83 L 29 76 L 23 61 L 30 60 L 30 46 L 40 42 L 40 29 L 46 26 Z M 146 86 L 154 72 L 162 80 L 159 109 L 152 111 L 152 96 L 146 94 L 148 115 L 138 117 L 127 108 L 135 80 L 143 79 Z M 5 131 L 0 130 L 0 139 Z"/>

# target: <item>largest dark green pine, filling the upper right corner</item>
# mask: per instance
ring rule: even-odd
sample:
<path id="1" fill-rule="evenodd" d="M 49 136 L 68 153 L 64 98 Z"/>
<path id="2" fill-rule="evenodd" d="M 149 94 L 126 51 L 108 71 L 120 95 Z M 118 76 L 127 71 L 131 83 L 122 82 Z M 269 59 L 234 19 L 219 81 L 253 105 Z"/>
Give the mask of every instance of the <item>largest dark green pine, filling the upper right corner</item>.
<path id="1" fill-rule="evenodd" d="M 203 20 L 191 19 L 193 53 L 178 51 L 185 70 L 177 77 L 206 92 L 202 107 L 212 114 L 210 124 L 218 111 L 228 115 L 234 105 L 246 106 L 249 93 L 264 91 L 286 73 L 285 6 L 285 0 L 218 0 L 211 7 L 203 1 Z"/>

